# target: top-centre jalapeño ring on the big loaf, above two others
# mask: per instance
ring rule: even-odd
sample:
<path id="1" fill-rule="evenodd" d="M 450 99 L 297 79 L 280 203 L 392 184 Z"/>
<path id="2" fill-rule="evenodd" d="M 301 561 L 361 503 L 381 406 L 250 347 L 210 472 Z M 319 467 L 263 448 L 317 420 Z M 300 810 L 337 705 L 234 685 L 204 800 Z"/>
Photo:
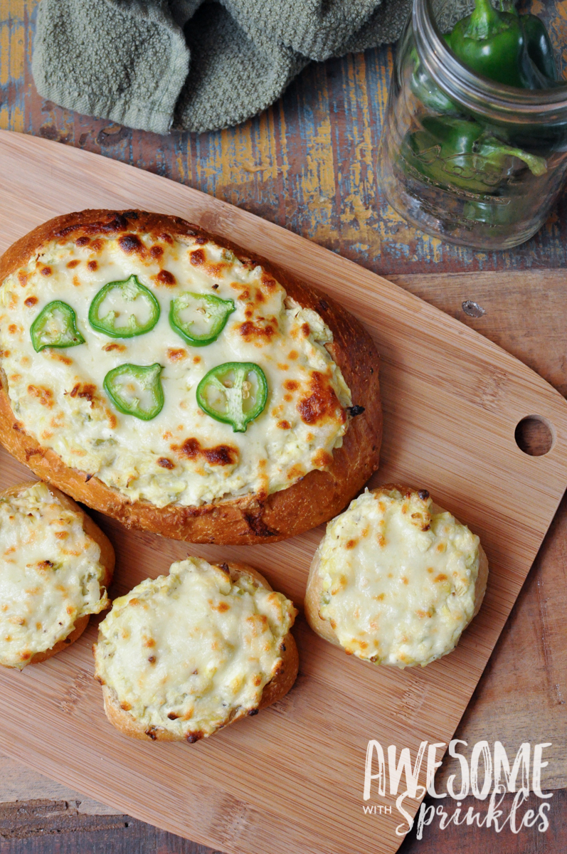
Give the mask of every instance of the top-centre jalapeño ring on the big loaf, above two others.
<path id="1" fill-rule="evenodd" d="M 89 309 L 89 323 L 111 338 L 133 338 L 153 329 L 160 303 L 137 276 L 109 282 L 98 291 Z"/>

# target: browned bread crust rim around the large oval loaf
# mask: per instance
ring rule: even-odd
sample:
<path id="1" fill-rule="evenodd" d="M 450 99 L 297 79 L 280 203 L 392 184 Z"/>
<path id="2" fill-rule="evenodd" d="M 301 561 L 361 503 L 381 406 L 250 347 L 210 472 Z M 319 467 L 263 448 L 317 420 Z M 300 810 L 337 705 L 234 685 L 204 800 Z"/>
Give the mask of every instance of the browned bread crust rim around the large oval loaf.
<path id="1" fill-rule="evenodd" d="M 342 447 L 333 452 L 327 471 L 310 471 L 289 488 L 260 500 L 254 494 L 217 500 L 199 507 L 128 500 L 85 471 L 67 467 L 53 450 L 39 447 L 23 431 L 10 407 L 7 380 L 1 369 L 0 442 L 38 477 L 54 483 L 76 500 L 119 519 L 128 528 L 155 531 L 176 540 L 221 544 L 277 542 L 317 527 L 336 516 L 378 467 L 382 441 L 382 407 L 378 371 L 380 358 L 371 336 L 354 316 L 328 296 L 302 284 L 284 270 L 243 249 L 190 225 L 184 219 L 141 211 L 86 210 L 50 219 L 14 243 L 0 258 L 0 283 L 38 254 L 44 243 L 97 234 L 140 232 L 172 237 L 201 236 L 231 249 L 239 260 L 263 266 L 301 307 L 319 313 L 333 333 L 328 349 L 352 392 L 354 406 L 365 412 L 350 419 Z"/>

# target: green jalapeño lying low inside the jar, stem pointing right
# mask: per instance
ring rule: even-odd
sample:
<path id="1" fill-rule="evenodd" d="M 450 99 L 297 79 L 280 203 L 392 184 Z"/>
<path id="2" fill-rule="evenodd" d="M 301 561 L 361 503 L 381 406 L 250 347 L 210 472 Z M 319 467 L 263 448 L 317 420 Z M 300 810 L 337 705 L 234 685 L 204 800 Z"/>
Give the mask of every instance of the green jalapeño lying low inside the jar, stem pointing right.
<path id="1" fill-rule="evenodd" d="M 422 126 L 422 131 L 406 134 L 401 155 L 406 169 L 435 186 L 495 193 L 514 173 L 513 157 L 523 161 L 534 175 L 547 172 L 542 157 L 500 142 L 476 121 L 425 116 Z"/>

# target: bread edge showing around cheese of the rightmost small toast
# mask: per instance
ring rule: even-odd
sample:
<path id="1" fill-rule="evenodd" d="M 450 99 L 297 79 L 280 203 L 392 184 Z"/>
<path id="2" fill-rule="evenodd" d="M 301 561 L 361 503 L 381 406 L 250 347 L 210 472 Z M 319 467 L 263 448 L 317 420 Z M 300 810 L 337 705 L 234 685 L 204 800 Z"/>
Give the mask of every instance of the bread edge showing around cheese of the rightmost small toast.
<path id="1" fill-rule="evenodd" d="M 392 489 L 398 489 L 402 495 L 406 494 L 406 492 L 416 491 L 415 488 L 409 486 L 402 486 L 400 483 L 386 483 L 382 487 L 379 487 L 377 489 L 371 489 L 371 492 L 375 495 L 388 494 L 389 492 L 391 492 Z M 440 507 L 438 504 L 435 504 L 435 501 L 433 501 L 431 504 L 431 512 L 444 513 L 446 511 L 443 510 L 443 508 Z M 481 543 L 479 543 L 478 545 L 478 553 L 479 563 L 478 575 L 476 576 L 475 583 L 475 611 L 471 617 L 471 621 L 476 617 L 476 614 L 480 610 L 488 583 L 488 558 L 484 549 L 482 548 Z M 319 551 L 317 551 L 313 557 L 311 567 L 309 568 L 307 591 L 305 594 L 305 602 L 303 605 L 305 616 L 307 619 L 307 623 L 309 623 L 313 631 L 317 635 L 319 635 L 319 637 L 322 637 L 323 640 L 328 640 L 335 646 L 341 646 L 342 648 L 342 644 L 336 636 L 335 630 L 330 625 L 329 620 L 324 620 L 319 613 L 319 602 L 321 601 L 322 592 L 323 577 L 319 573 Z M 359 658 L 359 661 L 362 661 L 363 664 L 370 664 L 371 667 L 376 667 L 376 664 L 367 662 L 363 658 Z"/>

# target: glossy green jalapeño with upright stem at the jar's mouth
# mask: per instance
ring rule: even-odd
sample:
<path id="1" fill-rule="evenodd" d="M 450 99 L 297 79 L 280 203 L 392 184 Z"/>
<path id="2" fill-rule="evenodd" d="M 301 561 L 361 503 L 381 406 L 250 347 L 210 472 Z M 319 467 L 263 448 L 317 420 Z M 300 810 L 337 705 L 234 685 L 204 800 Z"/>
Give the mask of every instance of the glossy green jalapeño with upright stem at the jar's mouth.
<path id="1" fill-rule="evenodd" d="M 446 40 L 459 60 L 477 74 L 520 89 L 546 85 L 529 58 L 518 16 L 494 9 L 490 0 L 475 0 L 474 11 L 455 24 Z"/>

